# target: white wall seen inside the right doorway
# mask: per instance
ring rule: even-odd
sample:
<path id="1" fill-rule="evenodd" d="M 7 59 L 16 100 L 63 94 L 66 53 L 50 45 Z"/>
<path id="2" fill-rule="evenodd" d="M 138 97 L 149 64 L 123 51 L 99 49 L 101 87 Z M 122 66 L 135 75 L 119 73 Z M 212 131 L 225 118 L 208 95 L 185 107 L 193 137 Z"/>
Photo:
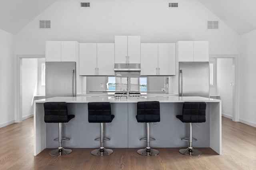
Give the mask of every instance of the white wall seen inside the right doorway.
<path id="1" fill-rule="evenodd" d="M 232 119 L 233 86 L 233 59 L 216 59 L 216 90 L 222 100 L 222 115 Z"/>

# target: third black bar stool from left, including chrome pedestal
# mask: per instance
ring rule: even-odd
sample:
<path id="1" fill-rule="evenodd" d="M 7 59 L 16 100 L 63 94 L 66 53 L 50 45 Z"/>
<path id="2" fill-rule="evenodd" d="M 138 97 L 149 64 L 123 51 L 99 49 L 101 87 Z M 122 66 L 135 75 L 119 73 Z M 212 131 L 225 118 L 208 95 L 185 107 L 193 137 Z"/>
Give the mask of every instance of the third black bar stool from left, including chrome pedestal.
<path id="1" fill-rule="evenodd" d="M 150 138 L 150 122 L 160 121 L 160 104 L 157 101 L 154 102 L 138 102 L 137 103 L 137 115 L 136 119 L 138 122 L 147 123 L 147 137 L 140 139 L 140 141 L 146 141 L 147 147 L 145 149 L 139 149 L 137 152 L 143 156 L 155 156 L 159 154 L 159 151 L 152 149 L 149 146 L 150 141 L 155 141 L 156 139 Z"/>

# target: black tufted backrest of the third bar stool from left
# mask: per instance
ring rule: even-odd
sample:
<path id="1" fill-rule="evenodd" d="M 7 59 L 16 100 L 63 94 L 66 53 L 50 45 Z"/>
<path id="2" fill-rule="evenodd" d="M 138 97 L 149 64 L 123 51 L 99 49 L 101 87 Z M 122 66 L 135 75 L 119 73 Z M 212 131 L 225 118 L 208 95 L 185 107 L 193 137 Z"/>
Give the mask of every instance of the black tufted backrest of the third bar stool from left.
<path id="1" fill-rule="evenodd" d="M 138 122 L 159 122 L 160 121 L 160 103 L 153 102 L 137 102 Z"/>

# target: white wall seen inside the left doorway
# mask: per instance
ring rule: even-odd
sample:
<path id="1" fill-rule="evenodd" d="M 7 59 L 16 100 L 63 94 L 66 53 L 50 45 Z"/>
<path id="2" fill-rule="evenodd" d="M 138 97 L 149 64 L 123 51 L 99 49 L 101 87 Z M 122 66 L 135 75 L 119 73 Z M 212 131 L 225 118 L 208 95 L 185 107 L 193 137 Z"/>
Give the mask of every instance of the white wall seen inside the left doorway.
<path id="1" fill-rule="evenodd" d="M 38 59 L 22 59 L 22 119 L 34 115 L 38 87 Z"/>

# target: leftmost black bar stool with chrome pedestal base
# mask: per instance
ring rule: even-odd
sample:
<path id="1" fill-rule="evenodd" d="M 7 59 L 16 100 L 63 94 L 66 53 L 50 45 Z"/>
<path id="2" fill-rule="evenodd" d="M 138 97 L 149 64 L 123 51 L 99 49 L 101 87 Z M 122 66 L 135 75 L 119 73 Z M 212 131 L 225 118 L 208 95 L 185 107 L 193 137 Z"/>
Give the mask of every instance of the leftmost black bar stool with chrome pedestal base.
<path id="1" fill-rule="evenodd" d="M 63 141 L 68 141 L 69 138 L 62 137 L 62 123 L 69 122 L 75 115 L 68 115 L 68 107 L 66 102 L 45 102 L 44 103 L 44 122 L 45 123 L 59 123 L 59 137 L 54 141 L 59 142 L 58 149 L 51 150 L 51 156 L 63 156 L 70 154 L 71 149 L 64 149 L 62 147 Z"/>

